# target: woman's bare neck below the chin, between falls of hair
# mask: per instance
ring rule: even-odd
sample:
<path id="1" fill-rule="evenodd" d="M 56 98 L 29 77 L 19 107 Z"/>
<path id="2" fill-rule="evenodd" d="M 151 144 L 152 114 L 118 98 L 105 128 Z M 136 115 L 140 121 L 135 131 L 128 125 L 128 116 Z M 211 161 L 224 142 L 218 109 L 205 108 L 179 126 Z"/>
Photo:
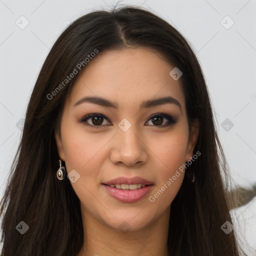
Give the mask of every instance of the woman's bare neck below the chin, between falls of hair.
<path id="1" fill-rule="evenodd" d="M 76 256 L 167 256 L 169 209 L 140 230 L 114 229 L 89 214 L 82 218 L 84 243 Z"/>

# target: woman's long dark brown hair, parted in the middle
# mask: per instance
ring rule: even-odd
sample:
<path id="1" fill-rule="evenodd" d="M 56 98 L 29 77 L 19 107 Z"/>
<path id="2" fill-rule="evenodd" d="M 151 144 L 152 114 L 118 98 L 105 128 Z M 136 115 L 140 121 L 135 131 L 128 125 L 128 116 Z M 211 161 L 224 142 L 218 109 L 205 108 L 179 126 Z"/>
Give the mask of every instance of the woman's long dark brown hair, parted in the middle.
<path id="1" fill-rule="evenodd" d="M 200 124 L 194 152 L 201 155 L 187 169 L 196 180 L 184 176 L 170 207 L 169 255 L 239 255 L 233 230 L 226 234 L 220 228 L 225 221 L 232 223 L 225 196 L 227 182 L 223 182 L 228 181 L 227 165 L 198 60 L 184 36 L 169 23 L 141 7 L 124 6 L 76 19 L 61 33 L 43 63 L 1 200 L 2 256 L 74 256 L 81 249 L 80 201 L 67 178 L 61 182 L 56 178 L 59 157 L 54 137 L 77 75 L 50 99 L 47 95 L 95 49 L 100 54 L 128 46 L 153 48 L 182 71 L 188 123 L 198 118 Z M 20 221 L 29 226 L 24 234 L 15 228 Z"/>

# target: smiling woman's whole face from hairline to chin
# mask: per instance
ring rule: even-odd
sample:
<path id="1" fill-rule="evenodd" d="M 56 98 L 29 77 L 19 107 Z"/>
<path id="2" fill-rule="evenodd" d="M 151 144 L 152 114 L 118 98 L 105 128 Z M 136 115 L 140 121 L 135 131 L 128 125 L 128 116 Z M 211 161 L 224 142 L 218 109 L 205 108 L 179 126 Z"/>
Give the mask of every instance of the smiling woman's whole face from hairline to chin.
<path id="1" fill-rule="evenodd" d="M 137 47 L 99 53 L 79 73 L 56 141 L 83 216 L 132 230 L 168 218 L 198 135 L 173 68 Z"/>

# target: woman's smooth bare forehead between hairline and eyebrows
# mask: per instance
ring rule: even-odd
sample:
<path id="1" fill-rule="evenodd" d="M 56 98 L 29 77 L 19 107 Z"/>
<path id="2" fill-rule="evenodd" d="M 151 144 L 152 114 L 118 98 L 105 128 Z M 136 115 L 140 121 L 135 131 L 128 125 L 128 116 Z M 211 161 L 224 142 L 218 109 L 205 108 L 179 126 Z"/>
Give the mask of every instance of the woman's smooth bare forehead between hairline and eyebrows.
<path id="1" fill-rule="evenodd" d="M 76 78 L 68 99 L 74 104 L 83 96 L 100 96 L 118 102 L 120 108 L 138 106 L 143 100 L 162 96 L 177 99 L 184 107 L 181 80 L 157 51 L 147 47 L 99 52 Z"/>

